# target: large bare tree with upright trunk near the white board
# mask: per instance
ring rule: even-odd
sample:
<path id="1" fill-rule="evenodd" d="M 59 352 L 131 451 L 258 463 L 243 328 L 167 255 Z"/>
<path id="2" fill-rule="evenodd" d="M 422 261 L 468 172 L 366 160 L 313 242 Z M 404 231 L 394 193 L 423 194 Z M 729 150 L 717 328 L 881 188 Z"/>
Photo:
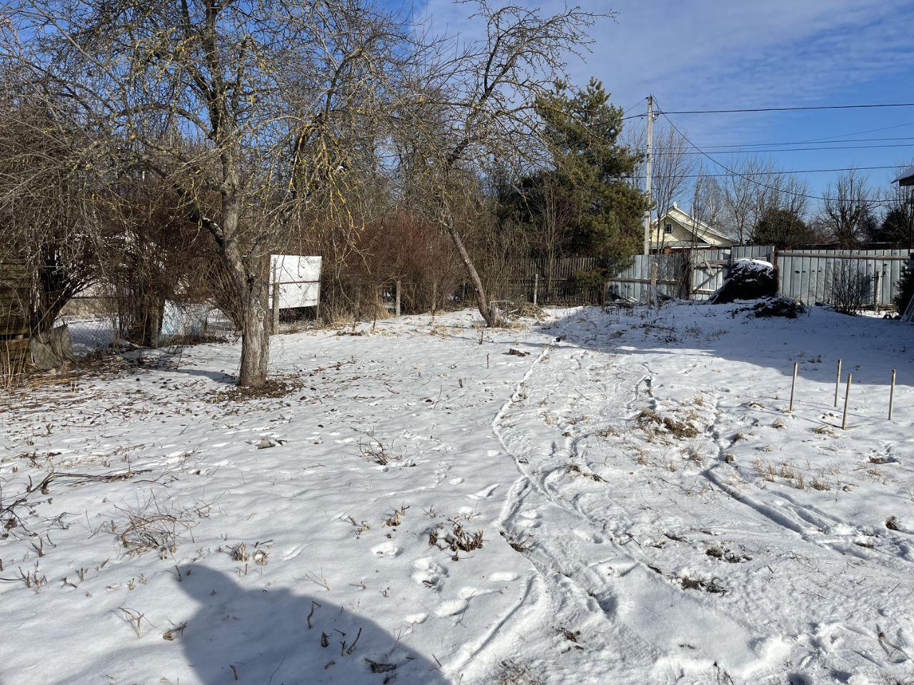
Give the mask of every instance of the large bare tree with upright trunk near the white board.
<path id="1" fill-rule="evenodd" d="M 24 0 L 9 20 L 6 58 L 107 132 L 84 163 L 112 155 L 167 179 L 212 238 L 238 305 L 239 384 L 262 385 L 269 256 L 293 227 L 348 211 L 346 142 L 390 107 L 411 54 L 402 24 L 362 0 Z"/>

